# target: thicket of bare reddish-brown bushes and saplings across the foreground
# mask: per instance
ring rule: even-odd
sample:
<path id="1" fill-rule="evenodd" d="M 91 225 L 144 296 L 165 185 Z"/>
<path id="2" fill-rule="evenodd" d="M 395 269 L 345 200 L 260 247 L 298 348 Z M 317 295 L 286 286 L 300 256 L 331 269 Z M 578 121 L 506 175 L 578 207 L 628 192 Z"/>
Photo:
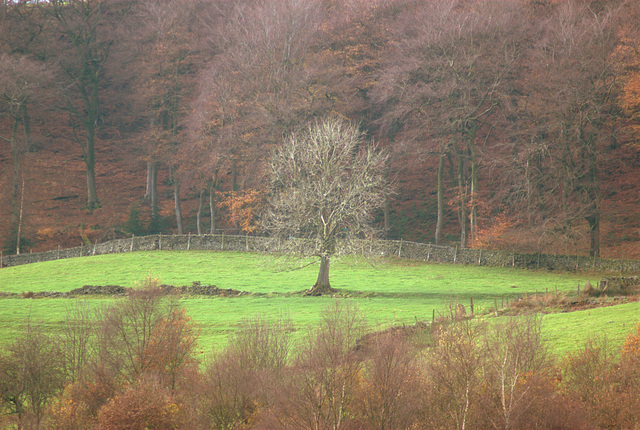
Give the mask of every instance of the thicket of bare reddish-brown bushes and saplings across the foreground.
<path id="1" fill-rule="evenodd" d="M 557 359 L 534 316 L 373 332 L 333 302 L 302 336 L 245 321 L 203 353 L 153 282 L 64 330 L 31 324 L 0 351 L 7 429 L 610 429 L 640 420 L 640 324 L 621 351 Z"/>

